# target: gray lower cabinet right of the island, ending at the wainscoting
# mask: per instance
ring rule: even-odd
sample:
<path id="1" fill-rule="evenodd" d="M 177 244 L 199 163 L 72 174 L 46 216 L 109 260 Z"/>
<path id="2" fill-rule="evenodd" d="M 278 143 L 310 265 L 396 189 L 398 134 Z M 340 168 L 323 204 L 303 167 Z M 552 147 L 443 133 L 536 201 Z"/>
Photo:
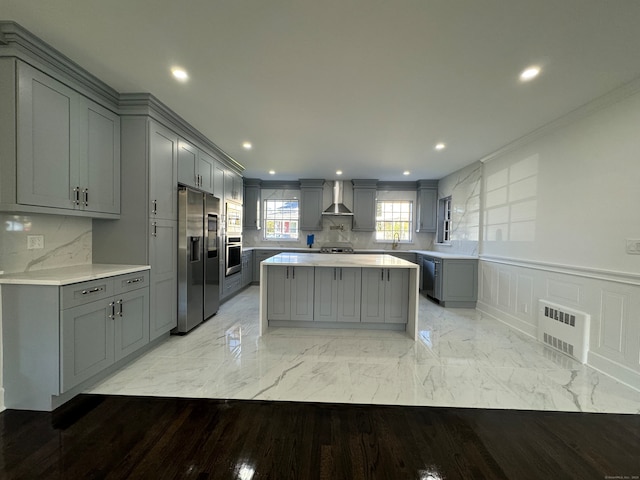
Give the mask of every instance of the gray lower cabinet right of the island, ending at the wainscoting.
<path id="1" fill-rule="evenodd" d="M 443 307 L 475 308 L 478 299 L 478 261 L 422 256 L 423 292 Z"/>

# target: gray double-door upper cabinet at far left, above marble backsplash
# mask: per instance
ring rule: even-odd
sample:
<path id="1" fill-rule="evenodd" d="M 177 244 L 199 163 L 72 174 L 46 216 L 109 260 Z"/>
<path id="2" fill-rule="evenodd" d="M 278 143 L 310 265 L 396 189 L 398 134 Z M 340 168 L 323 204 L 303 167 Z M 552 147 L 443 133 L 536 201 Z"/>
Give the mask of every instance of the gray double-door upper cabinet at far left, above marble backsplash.
<path id="1" fill-rule="evenodd" d="M 117 218 L 118 115 L 40 70 L 15 66 L 15 210 Z"/>

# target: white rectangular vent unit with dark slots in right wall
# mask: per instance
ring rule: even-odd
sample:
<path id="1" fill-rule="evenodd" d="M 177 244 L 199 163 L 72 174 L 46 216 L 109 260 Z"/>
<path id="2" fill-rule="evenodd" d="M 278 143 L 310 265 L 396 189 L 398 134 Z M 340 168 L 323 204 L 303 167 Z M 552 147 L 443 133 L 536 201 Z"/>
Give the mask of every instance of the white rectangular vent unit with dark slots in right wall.
<path id="1" fill-rule="evenodd" d="M 590 316 L 545 300 L 538 306 L 538 340 L 587 363 Z"/>

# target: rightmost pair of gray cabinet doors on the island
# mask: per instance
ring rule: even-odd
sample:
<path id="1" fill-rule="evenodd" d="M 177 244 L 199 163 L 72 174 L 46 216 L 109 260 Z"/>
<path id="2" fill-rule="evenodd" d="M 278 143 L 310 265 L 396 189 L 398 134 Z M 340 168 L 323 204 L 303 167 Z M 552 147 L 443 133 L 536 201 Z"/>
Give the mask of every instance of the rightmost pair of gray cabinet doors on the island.
<path id="1" fill-rule="evenodd" d="M 362 269 L 362 322 L 407 323 L 408 305 L 408 269 Z"/>

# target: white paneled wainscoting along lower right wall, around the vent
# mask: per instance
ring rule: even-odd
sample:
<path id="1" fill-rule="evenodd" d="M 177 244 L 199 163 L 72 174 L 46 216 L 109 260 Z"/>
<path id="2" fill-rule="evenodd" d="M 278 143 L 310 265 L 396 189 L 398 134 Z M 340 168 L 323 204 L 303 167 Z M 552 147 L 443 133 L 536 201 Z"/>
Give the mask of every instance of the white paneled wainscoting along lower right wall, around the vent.
<path id="1" fill-rule="evenodd" d="M 640 275 L 481 255 L 478 293 L 478 310 L 534 338 L 539 299 L 588 313 L 588 365 L 640 390 Z"/>

